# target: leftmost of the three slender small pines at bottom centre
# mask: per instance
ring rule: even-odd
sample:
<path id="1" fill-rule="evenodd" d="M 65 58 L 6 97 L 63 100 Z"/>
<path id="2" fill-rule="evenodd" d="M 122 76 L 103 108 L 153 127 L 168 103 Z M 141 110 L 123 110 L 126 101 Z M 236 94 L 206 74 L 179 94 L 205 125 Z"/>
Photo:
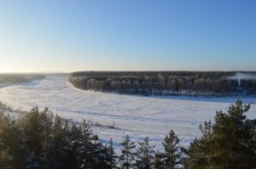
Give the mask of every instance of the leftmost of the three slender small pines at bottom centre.
<path id="1" fill-rule="evenodd" d="M 131 142 L 129 135 L 125 137 L 125 140 L 121 145 L 123 146 L 123 148 L 121 149 L 122 154 L 120 155 L 119 160 L 121 161 L 121 166 L 123 168 L 129 169 L 134 166 L 136 155 L 134 149 L 136 146 L 134 142 Z"/>

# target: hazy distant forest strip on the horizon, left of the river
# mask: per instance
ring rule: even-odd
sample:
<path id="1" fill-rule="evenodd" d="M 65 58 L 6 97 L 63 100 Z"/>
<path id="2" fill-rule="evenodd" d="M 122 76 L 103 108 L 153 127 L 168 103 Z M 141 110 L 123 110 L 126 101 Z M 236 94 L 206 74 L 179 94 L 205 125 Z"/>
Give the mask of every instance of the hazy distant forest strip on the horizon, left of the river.
<path id="1" fill-rule="evenodd" d="M 31 82 L 33 80 L 43 78 L 43 75 L 36 74 L 0 74 L 0 87 L 1 85 L 15 84 L 20 82 Z"/>

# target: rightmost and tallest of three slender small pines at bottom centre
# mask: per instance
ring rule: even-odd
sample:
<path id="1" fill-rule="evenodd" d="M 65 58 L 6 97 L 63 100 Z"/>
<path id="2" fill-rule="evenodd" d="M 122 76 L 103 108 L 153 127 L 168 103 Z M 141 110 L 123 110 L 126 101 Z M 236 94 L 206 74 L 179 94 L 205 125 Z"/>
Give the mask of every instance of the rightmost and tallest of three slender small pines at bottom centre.
<path id="1" fill-rule="evenodd" d="M 166 135 L 165 141 L 163 143 L 165 149 L 165 166 L 168 169 L 177 168 L 178 164 L 180 164 L 180 152 L 179 152 L 179 139 L 177 135 L 172 130 Z"/>

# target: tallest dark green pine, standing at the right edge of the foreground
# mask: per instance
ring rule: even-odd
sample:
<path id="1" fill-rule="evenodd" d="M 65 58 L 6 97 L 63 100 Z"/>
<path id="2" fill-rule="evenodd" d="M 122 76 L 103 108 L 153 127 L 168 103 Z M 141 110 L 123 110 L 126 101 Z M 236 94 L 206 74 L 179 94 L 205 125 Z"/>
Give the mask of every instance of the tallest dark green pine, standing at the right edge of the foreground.
<path id="1" fill-rule="evenodd" d="M 216 166 L 226 168 L 253 168 L 255 167 L 256 142 L 253 140 L 256 131 L 256 120 L 248 120 L 245 113 L 250 104 L 243 105 L 241 100 L 230 105 L 227 114 L 218 111 L 215 124 L 212 127 L 212 151 L 218 156 Z"/>

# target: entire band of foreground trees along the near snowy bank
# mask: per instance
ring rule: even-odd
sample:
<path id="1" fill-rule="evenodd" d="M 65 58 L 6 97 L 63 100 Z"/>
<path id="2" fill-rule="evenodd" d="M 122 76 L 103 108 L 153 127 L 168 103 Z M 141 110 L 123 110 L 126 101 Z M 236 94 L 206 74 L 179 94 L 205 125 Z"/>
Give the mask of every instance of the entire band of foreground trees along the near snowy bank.
<path id="1" fill-rule="evenodd" d="M 1 169 L 253 169 L 256 167 L 256 119 L 247 119 L 249 104 L 237 100 L 215 121 L 200 126 L 201 137 L 180 146 L 172 130 L 156 151 L 150 138 L 135 144 L 129 136 L 115 153 L 112 140 L 102 144 L 84 121 L 71 122 L 48 109 L 33 108 L 19 119 L 0 113 Z M 137 145 L 137 146 L 136 146 Z"/>

